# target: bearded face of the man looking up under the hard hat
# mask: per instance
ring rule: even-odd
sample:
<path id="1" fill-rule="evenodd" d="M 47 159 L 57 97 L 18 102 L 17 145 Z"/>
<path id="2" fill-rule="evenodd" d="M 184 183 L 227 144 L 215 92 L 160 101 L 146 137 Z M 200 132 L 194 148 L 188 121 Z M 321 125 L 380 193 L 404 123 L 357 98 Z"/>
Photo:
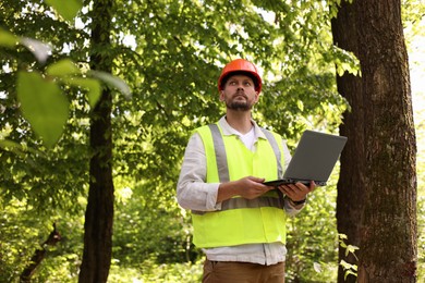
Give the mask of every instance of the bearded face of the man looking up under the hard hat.
<path id="1" fill-rule="evenodd" d="M 226 102 L 228 109 L 248 111 L 258 101 L 258 96 L 250 76 L 233 75 L 226 82 L 220 100 Z"/>

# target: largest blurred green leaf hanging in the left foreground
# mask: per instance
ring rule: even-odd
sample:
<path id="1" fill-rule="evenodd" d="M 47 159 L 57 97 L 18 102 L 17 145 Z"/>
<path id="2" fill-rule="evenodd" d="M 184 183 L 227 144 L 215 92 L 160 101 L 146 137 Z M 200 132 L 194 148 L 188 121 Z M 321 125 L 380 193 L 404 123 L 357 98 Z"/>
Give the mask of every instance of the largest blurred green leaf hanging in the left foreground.
<path id="1" fill-rule="evenodd" d="M 37 72 L 20 72 L 17 75 L 17 99 L 23 116 L 46 147 L 52 147 L 60 138 L 69 115 L 69 101 L 61 89 L 46 81 Z"/>

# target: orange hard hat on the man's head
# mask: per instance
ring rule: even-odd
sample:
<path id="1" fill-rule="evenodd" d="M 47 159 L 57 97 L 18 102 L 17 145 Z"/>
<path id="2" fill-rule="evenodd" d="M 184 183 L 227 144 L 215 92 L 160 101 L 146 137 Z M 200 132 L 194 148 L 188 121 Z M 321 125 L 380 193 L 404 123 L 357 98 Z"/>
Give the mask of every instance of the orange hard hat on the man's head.
<path id="1" fill-rule="evenodd" d="M 234 73 L 246 74 L 253 78 L 255 90 L 258 94 L 262 91 L 262 77 L 258 74 L 257 67 L 245 59 L 236 59 L 229 62 L 221 71 L 221 75 L 218 78 L 218 90 L 222 90 L 226 81 Z"/>

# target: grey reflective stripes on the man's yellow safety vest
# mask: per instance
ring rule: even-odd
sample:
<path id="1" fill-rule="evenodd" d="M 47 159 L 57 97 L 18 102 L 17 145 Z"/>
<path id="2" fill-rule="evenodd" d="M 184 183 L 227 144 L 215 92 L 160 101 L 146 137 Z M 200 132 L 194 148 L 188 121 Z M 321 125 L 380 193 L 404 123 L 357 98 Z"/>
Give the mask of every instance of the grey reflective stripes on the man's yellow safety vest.
<path id="1" fill-rule="evenodd" d="M 229 182 L 230 181 L 229 165 L 228 165 L 223 138 L 221 136 L 220 130 L 218 128 L 217 124 L 209 124 L 208 126 L 209 130 L 211 131 L 220 183 Z M 278 164 L 277 175 L 281 177 L 282 162 L 281 162 L 281 151 L 279 145 L 271 132 L 265 128 L 262 128 L 262 132 L 265 134 L 267 140 L 269 142 L 275 152 L 277 164 Z M 238 208 L 258 208 L 258 207 L 275 207 L 275 208 L 283 209 L 283 199 L 282 199 L 283 196 L 280 190 L 278 190 L 278 195 L 279 198 L 267 196 L 267 194 L 256 199 L 230 198 L 221 202 L 221 211 L 229 210 L 229 209 L 238 209 Z M 202 216 L 206 212 L 192 210 L 192 213 Z"/>

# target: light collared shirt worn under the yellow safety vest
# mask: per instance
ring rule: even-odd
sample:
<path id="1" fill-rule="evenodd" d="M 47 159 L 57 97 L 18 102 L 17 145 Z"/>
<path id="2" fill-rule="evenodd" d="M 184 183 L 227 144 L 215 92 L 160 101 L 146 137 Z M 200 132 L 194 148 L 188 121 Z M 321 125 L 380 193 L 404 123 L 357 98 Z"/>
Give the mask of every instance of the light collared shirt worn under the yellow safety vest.
<path id="1" fill-rule="evenodd" d="M 236 135 L 252 150 L 256 150 L 258 138 L 266 138 L 258 125 L 252 120 L 253 128 L 242 135 L 232 128 L 226 118 L 218 122 L 223 135 Z M 284 165 L 291 160 L 286 142 L 282 143 Z M 204 144 L 198 134 L 194 134 L 184 153 L 184 160 L 177 186 L 177 197 L 184 209 L 198 211 L 215 211 L 221 209 L 221 202 L 217 204 L 219 183 L 205 183 L 207 172 Z M 289 201 L 284 201 L 287 214 L 294 216 L 301 209 L 293 208 Z M 204 249 L 207 258 L 212 261 L 243 261 L 259 264 L 275 264 L 284 261 L 287 248 L 282 243 L 245 244 L 231 247 L 216 247 Z"/>

